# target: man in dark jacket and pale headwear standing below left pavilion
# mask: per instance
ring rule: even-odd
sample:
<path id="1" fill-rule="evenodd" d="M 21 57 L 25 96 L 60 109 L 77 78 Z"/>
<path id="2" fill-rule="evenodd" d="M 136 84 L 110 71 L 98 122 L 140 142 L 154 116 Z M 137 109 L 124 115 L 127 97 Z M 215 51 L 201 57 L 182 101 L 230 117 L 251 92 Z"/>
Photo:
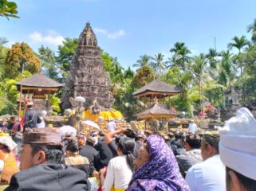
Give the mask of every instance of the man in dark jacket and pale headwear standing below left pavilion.
<path id="1" fill-rule="evenodd" d="M 37 123 L 41 123 L 37 111 L 33 109 L 33 101 L 26 103 L 26 114 L 24 119 L 24 131 L 26 128 L 35 128 Z"/>

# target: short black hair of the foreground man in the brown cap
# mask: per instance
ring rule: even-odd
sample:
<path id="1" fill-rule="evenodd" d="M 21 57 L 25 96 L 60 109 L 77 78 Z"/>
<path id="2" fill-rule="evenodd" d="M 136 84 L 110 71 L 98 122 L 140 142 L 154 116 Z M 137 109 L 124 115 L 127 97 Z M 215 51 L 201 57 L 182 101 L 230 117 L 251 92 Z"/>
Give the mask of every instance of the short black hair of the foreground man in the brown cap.
<path id="1" fill-rule="evenodd" d="M 37 154 L 39 150 L 45 152 L 45 158 L 47 162 L 62 164 L 64 159 L 64 151 L 62 146 L 51 146 L 51 145 L 42 145 L 42 144 L 30 144 L 32 148 L 32 156 Z"/>

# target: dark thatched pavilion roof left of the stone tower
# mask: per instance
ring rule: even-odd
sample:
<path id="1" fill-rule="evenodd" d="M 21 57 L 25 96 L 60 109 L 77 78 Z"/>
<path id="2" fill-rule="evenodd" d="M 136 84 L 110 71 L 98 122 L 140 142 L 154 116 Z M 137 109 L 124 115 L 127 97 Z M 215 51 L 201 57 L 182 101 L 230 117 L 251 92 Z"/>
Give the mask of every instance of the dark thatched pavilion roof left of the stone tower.
<path id="1" fill-rule="evenodd" d="M 61 88 L 63 85 L 42 74 L 34 74 L 22 81 L 16 83 L 19 86 L 37 87 L 37 88 Z"/>

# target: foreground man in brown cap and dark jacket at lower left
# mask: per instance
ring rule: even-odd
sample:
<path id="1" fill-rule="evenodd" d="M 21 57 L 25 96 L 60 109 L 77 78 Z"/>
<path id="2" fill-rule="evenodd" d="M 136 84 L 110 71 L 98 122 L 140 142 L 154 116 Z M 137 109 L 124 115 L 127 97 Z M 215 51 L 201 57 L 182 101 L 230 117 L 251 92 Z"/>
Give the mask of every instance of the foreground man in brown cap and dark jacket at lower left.
<path id="1" fill-rule="evenodd" d="M 61 135 L 52 128 L 27 129 L 20 156 L 21 172 L 5 190 L 89 190 L 86 173 L 62 165 Z"/>

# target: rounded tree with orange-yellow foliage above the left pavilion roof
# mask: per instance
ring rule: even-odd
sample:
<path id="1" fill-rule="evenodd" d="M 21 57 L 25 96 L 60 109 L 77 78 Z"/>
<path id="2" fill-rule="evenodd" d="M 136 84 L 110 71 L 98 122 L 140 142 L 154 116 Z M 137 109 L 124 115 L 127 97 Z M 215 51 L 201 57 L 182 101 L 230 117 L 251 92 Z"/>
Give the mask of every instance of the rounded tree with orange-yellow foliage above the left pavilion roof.
<path id="1" fill-rule="evenodd" d="M 23 64 L 26 64 L 24 69 L 32 74 L 39 72 L 41 69 L 40 59 L 30 46 L 25 42 L 21 44 L 16 42 L 12 45 L 12 48 L 8 50 L 6 56 L 4 63 L 5 76 L 9 78 L 18 76 L 18 73 L 22 71 Z"/>

